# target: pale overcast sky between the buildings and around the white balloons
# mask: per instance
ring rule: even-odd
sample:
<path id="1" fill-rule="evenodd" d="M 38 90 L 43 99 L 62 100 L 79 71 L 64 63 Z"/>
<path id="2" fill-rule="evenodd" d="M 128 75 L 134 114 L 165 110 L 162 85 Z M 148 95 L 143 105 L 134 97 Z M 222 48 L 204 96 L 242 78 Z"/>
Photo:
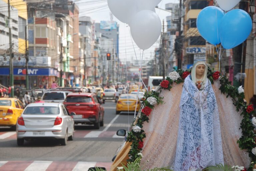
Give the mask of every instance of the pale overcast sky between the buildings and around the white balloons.
<path id="1" fill-rule="evenodd" d="M 75 1 L 76 0 L 74 0 L 74 2 Z M 158 4 L 158 7 L 164 9 L 165 4 L 167 3 L 179 3 L 179 0 L 162 0 Z M 79 0 L 78 2 L 76 2 L 76 4 L 79 6 L 79 16 L 90 16 L 92 20 L 95 20 L 95 22 L 97 23 L 102 20 L 110 20 L 110 10 L 107 6 L 107 0 Z M 161 21 L 163 21 L 163 19 L 166 21 L 166 16 L 171 15 L 171 13 L 160 9 L 156 9 L 156 13 L 159 15 Z M 119 58 L 122 62 L 125 62 L 125 58 L 127 59 L 127 61 L 136 60 L 128 25 L 122 23 L 115 17 L 113 18 L 113 20 L 117 21 L 117 23 L 119 24 Z M 165 25 L 167 24 L 165 23 Z M 165 27 L 165 29 L 167 29 L 167 27 Z M 145 50 L 143 59 L 152 59 L 154 57 L 154 50 L 155 48 L 159 47 L 159 43 L 160 41 L 158 39 L 158 41 L 151 48 Z M 136 44 L 134 44 L 134 47 L 137 58 L 139 59 L 140 54 L 142 54 L 142 50 L 140 51 Z"/>

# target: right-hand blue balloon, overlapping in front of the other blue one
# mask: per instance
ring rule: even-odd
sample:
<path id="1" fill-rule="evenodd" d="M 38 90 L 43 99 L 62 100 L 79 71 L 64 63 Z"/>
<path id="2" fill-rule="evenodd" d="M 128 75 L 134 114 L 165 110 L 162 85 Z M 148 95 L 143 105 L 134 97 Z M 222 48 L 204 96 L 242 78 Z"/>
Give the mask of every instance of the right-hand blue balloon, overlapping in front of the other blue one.
<path id="1" fill-rule="evenodd" d="M 234 9 L 224 15 L 220 27 L 223 48 L 231 49 L 243 43 L 252 31 L 252 19 L 244 10 Z"/>

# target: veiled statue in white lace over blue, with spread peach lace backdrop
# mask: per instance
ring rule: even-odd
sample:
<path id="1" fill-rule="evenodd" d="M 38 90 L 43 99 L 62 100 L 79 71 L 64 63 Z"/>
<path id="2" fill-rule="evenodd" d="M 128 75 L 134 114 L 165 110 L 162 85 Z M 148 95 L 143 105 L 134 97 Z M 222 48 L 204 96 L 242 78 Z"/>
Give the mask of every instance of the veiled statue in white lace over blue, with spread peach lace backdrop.
<path id="1" fill-rule="evenodd" d="M 173 84 L 170 91 L 160 92 L 164 103 L 155 105 L 149 122 L 143 123 L 143 170 L 170 166 L 174 171 L 195 171 L 220 163 L 250 165 L 248 152 L 237 144 L 242 136 L 242 116 L 232 99 L 219 90 L 219 81 L 212 85 L 207 79 L 207 71 L 205 62 L 196 61 L 184 84 Z M 129 151 L 124 147 L 115 161 L 121 161 L 125 150 Z"/>

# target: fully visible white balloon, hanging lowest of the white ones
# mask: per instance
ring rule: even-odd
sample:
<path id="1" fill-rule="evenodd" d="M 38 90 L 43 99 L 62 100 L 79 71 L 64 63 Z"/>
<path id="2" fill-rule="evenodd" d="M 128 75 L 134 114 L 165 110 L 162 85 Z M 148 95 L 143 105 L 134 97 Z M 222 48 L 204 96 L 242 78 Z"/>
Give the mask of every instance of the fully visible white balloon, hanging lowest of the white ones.
<path id="1" fill-rule="evenodd" d="M 151 10 L 142 10 L 130 22 L 131 35 L 140 49 L 150 48 L 159 38 L 162 30 L 161 20 Z"/>

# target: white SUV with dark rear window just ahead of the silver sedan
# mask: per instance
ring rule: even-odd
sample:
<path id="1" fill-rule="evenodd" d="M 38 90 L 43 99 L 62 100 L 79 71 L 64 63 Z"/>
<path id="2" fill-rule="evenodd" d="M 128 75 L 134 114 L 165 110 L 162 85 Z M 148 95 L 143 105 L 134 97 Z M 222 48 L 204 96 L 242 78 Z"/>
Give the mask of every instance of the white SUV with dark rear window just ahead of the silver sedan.
<path id="1" fill-rule="evenodd" d="M 65 98 L 66 98 L 66 92 L 65 91 L 46 91 L 44 92 L 42 96 L 42 100 L 44 102 L 57 102 L 57 103 L 62 103 Z"/>

